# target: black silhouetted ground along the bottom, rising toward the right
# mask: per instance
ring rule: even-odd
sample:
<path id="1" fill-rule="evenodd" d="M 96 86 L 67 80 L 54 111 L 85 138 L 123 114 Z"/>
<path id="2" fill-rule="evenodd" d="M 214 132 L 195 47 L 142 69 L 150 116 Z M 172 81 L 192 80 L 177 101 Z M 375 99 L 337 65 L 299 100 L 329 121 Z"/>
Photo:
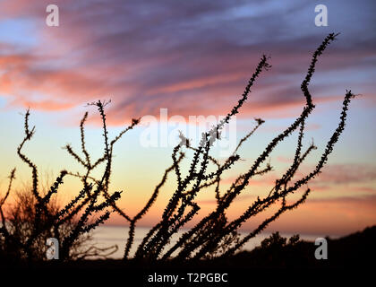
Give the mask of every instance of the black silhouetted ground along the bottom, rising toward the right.
<path id="1" fill-rule="evenodd" d="M 373 226 L 340 239 L 328 239 L 326 260 L 317 260 L 314 257 L 318 246 L 313 242 L 291 242 L 277 235 L 264 241 L 259 248 L 226 259 L 185 263 L 170 261 L 163 264 L 109 259 L 67 263 L 56 260 L 28 264 L 0 257 L 0 270 L 24 274 L 54 274 L 60 280 L 67 279 L 66 274 L 90 274 L 91 279 L 100 277 L 100 274 L 112 274 L 109 277 L 105 275 L 106 278 L 121 275 L 127 278 L 122 286 L 243 286 L 243 283 L 252 283 L 255 278 L 278 281 L 280 276 L 288 278 L 289 274 L 305 274 L 310 280 L 318 279 L 322 274 L 338 274 L 343 279 L 355 271 L 367 274 L 376 272 L 375 243 L 376 226 Z M 182 281 L 179 284 L 150 283 L 150 275 L 154 274 L 179 274 Z M 192 274 L 191 282 L 187 282 L 188 274 Z M 194 274 L 228 274 L 228 282 L 211 283 L 206 278 L 199 283 L 192 282 L 196 279 Z M 248 283 L 244 286 L 248 286 Z"/>

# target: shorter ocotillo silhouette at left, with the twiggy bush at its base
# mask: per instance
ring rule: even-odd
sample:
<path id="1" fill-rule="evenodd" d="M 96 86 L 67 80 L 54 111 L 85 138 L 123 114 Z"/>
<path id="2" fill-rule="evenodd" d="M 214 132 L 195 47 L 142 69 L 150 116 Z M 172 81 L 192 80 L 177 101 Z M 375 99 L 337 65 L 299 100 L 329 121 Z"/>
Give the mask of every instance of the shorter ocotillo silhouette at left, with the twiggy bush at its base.
<path id="1" fill-rule="evenodd" d="M 104 123 L 106 120 L 104 107 L 106 102 L 93 103 L 98 108 Z M 106 256 L 108 248 L 96 248 L 90 246 L 86 249 L 77 251 L 77 245 L 80 245 L 82 239 L 94 230 L 99 224 L 105 222 L 112 208 L 108 208 L 120 198 L 121 192 L 115 191 L 110 194 L 108 191 L 109 177 L 111 174 L 112 152 L 115 142 L 120 139 L 124 133 L 137 125 L 138 120 L 133 120 L 132 125 L 124 129 L 110 143 L 108 142 L 107 126 L 103 126 L 104 130 L 104 154 L 93 163 L 90 161 L 90 153 L 86 149 L 84 123 L 88 117 L 88 113 L 81 120 L 81 151 L 84 159 L 73 151 L 73 147 L 69 144 L 65 145 L 65 149 L 73 158 L 80 162 L 86 169 L 84 175 L 62 170 L 56 178 L 54 184 L 46 193 L 40 191 L 38 185 L 38 169 L 23 152 L 23 146 L 30 141 L 35 134 L 35 126 L 30 129 L 29 126 L 30 111 L 27 110 L 24 122 L 24 138 L 17 149 L 17 153 L 21 161 L 25 162 L 31 170 L 32 187 L 30 194 L 21 195 L 21 203 L 13 206 L 13 210 L 8 212 L 8 217 L 4 214 L 4 203 L 9 198 L 12 191 L 12 183 L 15 170 L 11 172 L 9 187 L 0 201 L 0 214 L 2 225 L 0 229 L 1 249 L 4 253 L 12 253 L 18 258 L 45 259 L 46 239 L 55 238 L 59 242 L 59 256 L 61 259 L 85 258 L 85 257 L 101 257 Z M 98 167 L 102 162 L 106 162 L 106 167 L 100 179 L 90 182 L 90 172 Z M 68 204 L 63 208 L 57 208 L 52 204 L 52 197 L 56 195 L 58 188 L 64 184 L 66 176 L 74 176 L 81 178 L 82 189 Z M 92 178 L 91 178 L 92 179 Z M 20 197 L 19 197 L 20 198 Z M 99 202 L 101 201 L 101 202 Z M 16 210 L 14 210 L 16 209 Z M 21 210 L 24 210 L 20 213 Z M 85 241 L 85 240 L 83 240 Z M 117 247 L 115 247 L 117 248 Z M 115 251 L 115 250 L 112 250 Z"/>

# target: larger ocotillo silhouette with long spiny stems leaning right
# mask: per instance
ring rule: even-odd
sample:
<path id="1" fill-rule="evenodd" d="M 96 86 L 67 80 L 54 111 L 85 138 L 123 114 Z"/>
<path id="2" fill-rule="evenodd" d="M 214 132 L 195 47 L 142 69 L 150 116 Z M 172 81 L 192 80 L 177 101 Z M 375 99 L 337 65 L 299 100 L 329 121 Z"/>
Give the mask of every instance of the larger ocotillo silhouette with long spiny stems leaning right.
<path id="1" fill-rule="evenodd" d="M 213 255 L 218 257 L 231 256 L 236 250 L 242 248 L 249 239 L 252 239 L 258 233 L 260 233 L 261 230 L 264 230 L 270 222 L 275 221 L 280 214 L 297 207 L 299 204 L 303 204 L 311 191 L 310 188 L 303 191 L 300 199 L 296 200 L 292 204 L 287 204 L 286 196 L 298 192 L 299 189 L 301 189 L 301 187 L 303 187 L 310 179 L 316 177 L 320 173 L 322 167 L 328 161 L 329 153 L 333 151 L 334 144 L 338 142 L 339 135 L 341 135 L 344 130 L 348 105 L 350 100 L 355 97 L 351 91 L 346 91 L 338 127 L 330 137 L 325 151 L 320 156 L 320 161 L 317 162 L 315 169 L 313 169 L 309 174 L 293 182 L 292 179 L 294 178 L 296 171 L 299 169 L 302 162 L 310 152 L 316 149 L 315 145 L 312 143 L 305 151 L 303 151 L 302 140 L 304 135 L 305 121 L 315 108 L 312 95 L 308 90 L 308 85 L 311 82 L 312 74 L 314 73 L 318 57 L 320 57 L 329 43 L 337 36 L 338 34 L 329 34 L 329 36 L 323 40 L 320 47 L 317 48 L 312 55 L 311 65 L 309 66 L 308 72 L 303 80 L 303 83 L 301 84 L 301 90 L 303 91 L 303 96 L 306 103 L 300 116 L 296 117 L 295 121 L 290 126 L 286 127 L 282 133 L 277 135 L 266 146 L 264 151 L 261 152 L 260 156 L 253 162 L 250 169 L 239 175 L 238 178 L 236 178 L 232 183 L 231 187 L 226 190 L 226 192 L 221 194 L 219 191 L 222 173 L 224 170 L 231 169 L 235 165 L 236 161 L 238 161 L 240 158 L 236 152 L 238 152 L 240 146 L 250 138 L 250 136 L 259 126 L 262 125 L 264 121 L 260 118 L 256 119 L 257 125 L 255 128 L 250 134 L 246 135 L 240 141 L 233 155 L 231 155 L 224 164 L 218 164 L 218 161 L 209 155 L 209 151 L 213 143 L 220 139 L 220 132 L 223 127 L 229 122 L 231 117 L 234 117 L 235 114 L 239 112 L 244 105 L 244 102 L 247 100 L 250 89 L 256 78 L 263 70 L 268 70 L 271 67 L 267 62 L 269 59 L 265 56 L 261 57 L 261 61 L 259 65 L 257 65 L 254 74 L 252 74 L 252 77 L 245 87 L 245 91 L 240 100 L 238 100 L 235 107 L 231 109 L 227 116 L 220 121 L 217 126 L 214 126 L 208 132 L 202 135 L 201 143 L 197 148 L 192 148 L 189 141 L 185 139 L 183 135 L 181 135 L 182 141 L 175 147 L 172 154 L 175 175 L 177 178 L 175 193 L 167 204 L 161 220 L 142 240 L 136 251 L 136 258 L 166 260 L 167 258 L 173 257 L 173 254 L 175 254 L 175 259 L 178 260 L 200 259 L 204 257 L 211 257 Z M 263 175 L 272 169 L 268 163 L 263 167 L 262 164 L 267 161 L 270 153 L 278 146 L 278 144 L 282 143 L 286 137 L 291 135 L 295 130 L 299 130 L 299 135 L 296 143 L 295 157 L 291 162 L 290 167 L 286 170 L 281 178 L 276 180 L 275 185 L 270 187 L 268 196 L 265 196 L 264 198 L 258 197 L 253 204 L 244 210 L 244 213 L 241 216 L 229 222 L 226 216 L 226 210 L 228 207 L 233 204 L 235 198 L 239 196 L 242 191 L 244 191 L 244 188 L 247 187 L 251 178 L 256 175 Z M 181 152 L 184 146 L 194 150 L 191 166 L 188 174 L 185 177 L 183 177 L 179 167 L 180 159 L 176 159 L 178 152 Z M 208 172 L 210 162 L 214 163 L 217 169 L 216 171 Z M 169 246 L 171 237 L 178 230 L 180 230 L 185 223 L 190 222 L 200 210 L 200 206 L 194 202 L 195 197 L 204 188 L 214 185 L 216 191 L 217 208 L 205 216 L 192 229 L 185 231 L 174 245 Z M 249 220 L 252 216 L 267 211 L 271 206 L 275 206 L 278 203 L 280 206 L 278 207 L 277 212 L 267 217 L 255 230 L 252 230 L 252 232 L 250 232 L 244 238 L 239 236 L 237 230 L 244 224 L 244 222 Z M 132 228 L 134 228 L 134 226 Z M 132 238 L 128 240 L 128 244 L 129 242 L 132 242 Z M 129 250 L 127 248 L 125 257 L 127 257 L 128 251 Z"/>

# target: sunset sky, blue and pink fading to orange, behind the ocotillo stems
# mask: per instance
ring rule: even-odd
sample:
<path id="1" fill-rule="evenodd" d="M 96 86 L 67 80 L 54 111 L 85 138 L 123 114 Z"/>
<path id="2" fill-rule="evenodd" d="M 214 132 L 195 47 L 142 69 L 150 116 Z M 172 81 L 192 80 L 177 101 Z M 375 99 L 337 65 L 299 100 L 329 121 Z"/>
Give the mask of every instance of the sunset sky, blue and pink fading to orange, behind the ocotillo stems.
<path id="1" fill-rule="evenodd" d="M 46 24 L 46 7 L 59 7 L 59 27 Z M 316 27 L 314 7 L 326 4 L 329 26 Z M 309 173 L 338 125 L 346 89 L 360 94 L 350 106 L 346 130 L 312 194 L 299 209 L 281 216 L 269 230 L 343 235 L 376 223 L 376 18 L 374 1 L 76 1 L 0 0 L 0 187 L 17 168 L 16 188 L 30 182 L 30 170 L 16 154 L 23 114 L 37 126 L 25 151 L 38 164 L 41 177 L 80 167 L 62 146 L 80 151 L 79 123 L 88 110 L 88 148 L 103 149 L 94 100 L 107 106 L 110 135 L 132 118 L 224 116 L 244 91 L 262 54 L 271 69 L 261 74 L 236 118 L 239 140 L 266 123 L 239 151 L 242 159 L 226 173 L 223 188 L 244 172 L 263 147 L 291 124 L 302 110 L 300 84 L 312 52 L 330 32 L 338 39 L 320 57 L 310 91 L 316 104 L 307 122 L 304 146 L 314 139 L 318 150 L 300 170 Z M 166 123 L 160 123 L 161 128 Z M 169 126 L 171 130 L 173 126 Z M 111 190 L 123 190 L 120 205 L 137 213 L 172 164 L 172 146 L 145 147 L 145 122 L 115 146 Z M 241 213 L 255 196 L 269 192 L 294 157 L 296 133 L 272 153 L 274 170 L 254 178 L 229 210 Z M 66 180 L 63 200 L 79 191 L 79 181 Z M 158 221 L 174 191 L 171 175 L 143 225 Z M 215 206 L 213 193 L 199 196 L 202 212 Z M 199 214 L 199 216 L 201 216 Z M 124 224 L 115 214 L 110 224 Z M 107 223 L 107 224 L 108 224 Z M 257 221 L 250 221 L 250 229 Z"/>

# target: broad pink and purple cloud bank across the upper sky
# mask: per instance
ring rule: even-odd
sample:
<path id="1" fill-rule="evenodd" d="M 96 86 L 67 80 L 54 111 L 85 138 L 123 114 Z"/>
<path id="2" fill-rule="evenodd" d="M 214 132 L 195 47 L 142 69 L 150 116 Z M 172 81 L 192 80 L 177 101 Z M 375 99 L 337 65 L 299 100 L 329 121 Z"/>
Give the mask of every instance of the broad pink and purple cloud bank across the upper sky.
<path id="1" fill-rule="evenodd" d="M 184 10 L 170 2 L 57 1 L 62 13 L 58 29 L 45 25 L 47 4 L 44 0 L 0 4 L 3 17 L 33 21 L 38 36 L 36 47 L 22 53 L 19 48 L 9 53 L 7 44 L 0 43 L 0 92 L 13 104 L 43 110 L 72 109 L 111 98 L 114 104 L 108 112 L 113 125 L 158 115 L 159 108 L 184 117 L 226 114 L 263 53 L 272 56 L 273 67 L 261 74 L 241 115 L 291 117 L 303 104 L 300 82 L 312 49 L 322 39 L 321 35 L 270 39 L 268 27 L 273 31 L 279 27 L 278 22 L 268 22 L 265 33 L 246 25 L 246 35 L 260 37 L 243 42 L 245 31 L 237 35 L 237 30 L 211 29 L 202 21 L 213 13 L 226 14 L 234 4 L 225 1 L 207 2 L 200 9 L 184 4 Z M 235 25 L 237 20 L 229 21 Z M 369 65 L 362 59 L 374 57 L 372 43 L 363 39 L 335 44 L 330 57 L 320 59 L 318 74 L 358 70 Z M 315 102 L 342 99 L 354 81 L 338 78 L 338 87 L 314 82 Z M 364 89 L 372 91 L 372 85 L 363 82 Z"/>

